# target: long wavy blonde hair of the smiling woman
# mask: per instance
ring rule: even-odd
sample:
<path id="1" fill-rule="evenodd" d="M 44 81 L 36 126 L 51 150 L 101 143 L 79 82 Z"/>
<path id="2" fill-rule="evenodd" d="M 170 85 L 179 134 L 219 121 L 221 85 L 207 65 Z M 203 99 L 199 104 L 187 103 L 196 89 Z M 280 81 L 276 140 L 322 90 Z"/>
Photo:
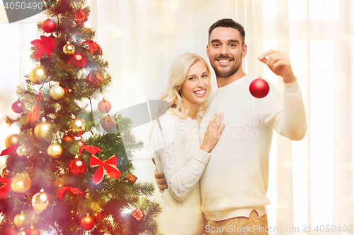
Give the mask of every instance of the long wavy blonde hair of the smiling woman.
<path id="1" fill-rule="evenodd" d="M 169 102 L 174 115 L 180 119 L 188 116 L 188 105 L 183 101 L 181 96 L 181 85 L 187 78 L 187 73 L 193 64 L 202 62 L 207 68 L 208 79 L 210 80 L 210 68 L 207 62 L 201 56 L 195 53 L 186 52 L 178 56 L 169 69 L 166 88 L 159 95 L 158 100 Z M 210 91 L 207 92 L 209 97 Z M 199 105 L 197 109 L 197 119 L 200 120 L 200 112 L 205 109 L 205 103 Z"/>

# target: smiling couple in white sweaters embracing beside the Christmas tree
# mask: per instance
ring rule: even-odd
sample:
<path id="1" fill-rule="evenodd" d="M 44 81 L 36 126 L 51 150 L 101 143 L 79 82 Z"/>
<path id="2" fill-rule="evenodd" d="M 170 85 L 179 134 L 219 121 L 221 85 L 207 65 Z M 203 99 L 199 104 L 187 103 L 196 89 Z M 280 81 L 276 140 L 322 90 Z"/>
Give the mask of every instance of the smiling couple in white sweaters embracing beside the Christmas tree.
<path id="1" fill-rule="evenodd" d="M 242 25 L 222 19 L 210 26 L 207 44 L 216 92 L 210 94 L 210 68 L 198 54 L 181 54 L 169 69 L 159 100 L 171 108 L 151 135 L 162 192 L 159 234 L 268 234 L 273 129 L 302 140 L 306 113 L 287 55 L 268 50 L 258 56 L 282 77 L 284 99 L 269 82 L 268 95 L 257 99 L 249 90 L 257 77 L 242 68 L 246 53 Z"/>

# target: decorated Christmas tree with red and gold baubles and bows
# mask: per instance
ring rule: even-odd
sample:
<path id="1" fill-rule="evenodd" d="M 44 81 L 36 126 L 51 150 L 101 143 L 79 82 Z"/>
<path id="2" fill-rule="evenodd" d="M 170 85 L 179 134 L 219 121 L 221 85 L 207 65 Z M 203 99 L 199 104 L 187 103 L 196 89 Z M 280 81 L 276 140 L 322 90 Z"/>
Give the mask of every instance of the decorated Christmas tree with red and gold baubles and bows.
<path id="1" fill-rule="evenodd" d="M 153 183 L 132 174 L 142 142 L 131 119 L 108 114 L 111 78 L 84 25 L 89 6 L 57 0 L 46 7 L 43 35 L 31 42 L 37 66 L 18 85 L 17 116 L 6 116 L 21 133 L 8 135 L 1 152 L 0 234 L 154 234 Z M 92 99 L 101 100 L 98 108 Z"/>

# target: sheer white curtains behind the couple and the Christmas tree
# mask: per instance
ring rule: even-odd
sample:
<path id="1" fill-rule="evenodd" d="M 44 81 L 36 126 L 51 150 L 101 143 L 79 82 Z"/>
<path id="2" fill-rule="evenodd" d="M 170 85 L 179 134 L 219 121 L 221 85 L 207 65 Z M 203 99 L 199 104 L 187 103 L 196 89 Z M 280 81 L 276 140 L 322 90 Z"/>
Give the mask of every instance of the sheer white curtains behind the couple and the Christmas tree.
<path id="1" fill-rule="evenodd" d="M 220 18 L 244 25 L 249 49 L 244 70 L 261 73 L 281 94 L 281 78 L 257 56 L 267 49 L 286 52 L 302 89 L 309 128 L 299 142 L 274 135 L 269 224 L 278 229 L 274 234 L 326 234 L 326 229 L 327 234 L 354 234 L 353 1 L 91 0 L 89 4 L 88 25 L 96 28 L 95 40 L 117 84 L 110 96 L 116 107 L 156 100 L 166 85 L 169 65 L 179 54 L 196 52 L 207 60 L 207 30 Z M 30 41 L 40 36 L 35 25 L 43 18 L 39 14 L 8 24 L 4 13 L 0 6 L 1 121 L 6 114 L 14 115 L 14 90 L 30 71 Z M 212 81 L 215 90 L 215 76 Z M 0 128 L 4 149 L 4 139 L 16 130 L 9 130 L 4 121 Z M 148 129 L 149 124 L 143 125 L 135 133 L 147 140 Z M 139 180 L 154 181 L 150 158 L 149 152 L 137 152 Z"/>

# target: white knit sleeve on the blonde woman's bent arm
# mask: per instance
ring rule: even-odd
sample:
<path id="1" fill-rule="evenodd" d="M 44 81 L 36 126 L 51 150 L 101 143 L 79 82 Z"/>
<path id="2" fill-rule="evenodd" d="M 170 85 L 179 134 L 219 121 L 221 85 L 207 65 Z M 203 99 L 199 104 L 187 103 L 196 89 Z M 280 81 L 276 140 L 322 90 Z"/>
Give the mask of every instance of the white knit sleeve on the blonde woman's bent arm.
<path id="1" fill-rule="evenodd" d="M 193 133 L 185 133 L 188 128 L 176 116 L 166 116 L 160 122 L 161 130 L 156 125 L 153 132 L 154 145 L 162 167 L 158 170 L 164 172 L 173 198 L 182 201 L 198 183 L 210 153 L 200 150 L 200 146 L 195 146 L 195 149 L 186 148 L 190 145 L 186 145 L 184 136 Z M 193 157 L 187 162 L 185 155 L 189 151 L 193 151 Z"/>

